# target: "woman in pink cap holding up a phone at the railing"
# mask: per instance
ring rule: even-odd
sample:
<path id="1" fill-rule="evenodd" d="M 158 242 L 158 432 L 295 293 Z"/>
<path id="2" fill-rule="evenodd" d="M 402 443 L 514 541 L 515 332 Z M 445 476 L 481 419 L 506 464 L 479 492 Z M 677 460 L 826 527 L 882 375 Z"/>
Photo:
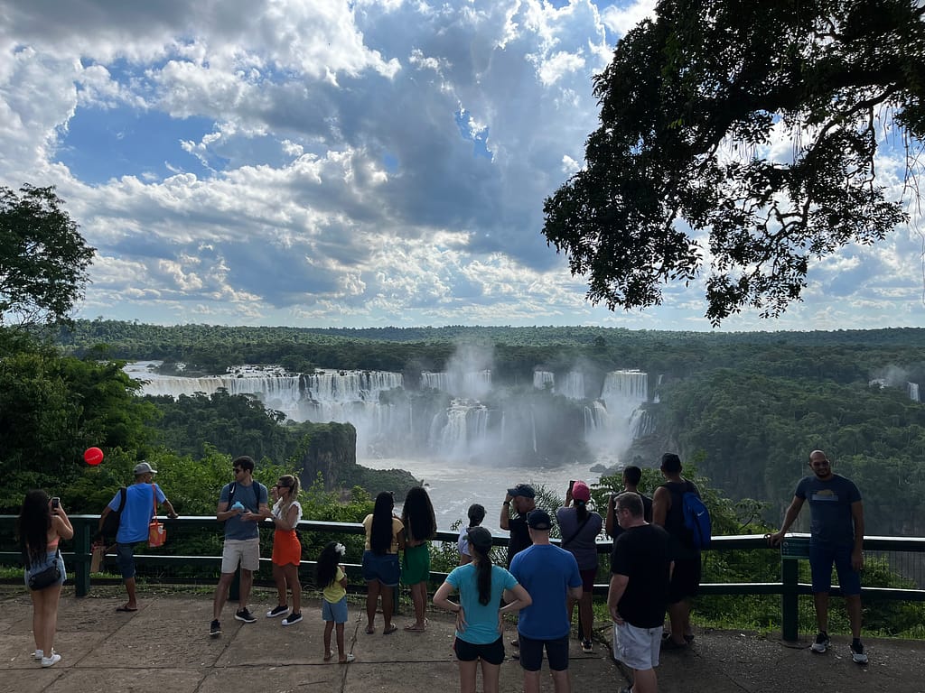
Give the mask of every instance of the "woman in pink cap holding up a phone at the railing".
<path id="1" fill-rule="evenodd" d="M 578 601 L 578 620 L 581 622 L 581 649 L 594 651 L 591 628 L 594 626 L 594 578 L 598 575 L 598 534 L 603 520 L 588 511 L 591 490 L 584 481 L 572 481 L 565 493 L 565 505 L 556 511 L 562 538 L 562 548 L 572 553 L 581 572 L 582 595 Z M 571 506 L 571 507 L 570 507 Z M 572 618 L 574 600 L 569 598 L 569 619 Z"/>

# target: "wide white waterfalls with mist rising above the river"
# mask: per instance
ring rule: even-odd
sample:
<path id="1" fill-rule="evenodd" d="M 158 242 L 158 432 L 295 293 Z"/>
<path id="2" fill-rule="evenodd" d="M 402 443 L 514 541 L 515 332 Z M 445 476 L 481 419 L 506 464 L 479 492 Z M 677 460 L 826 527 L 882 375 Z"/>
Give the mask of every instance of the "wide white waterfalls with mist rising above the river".
<path id="1" fill-rule="evenodd" d="M 421 373 L 418 386 L 388 371 L 316 371 L 235 367 L 223 375 L 161 375 L 157 362 L 129 364 L 142 395 L 253 395 L 293 421 L 350 422 L 357 457 L 433 457 L 485 464 L 616 462 L 639 432 L 648 376 L 613 371 L 598 397 L 586 398 L 585 374 L 537 369 L 529 385 L 494 383 L 490 349 L 461 347 L 446 371 Z M 594 386 L 594 385 L 591 385 Z"/>

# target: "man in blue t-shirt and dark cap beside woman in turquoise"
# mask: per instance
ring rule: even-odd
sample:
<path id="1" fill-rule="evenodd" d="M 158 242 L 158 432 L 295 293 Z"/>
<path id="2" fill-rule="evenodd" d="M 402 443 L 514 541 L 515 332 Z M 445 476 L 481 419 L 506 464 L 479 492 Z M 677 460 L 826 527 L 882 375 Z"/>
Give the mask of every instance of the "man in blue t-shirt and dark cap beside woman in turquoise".
<path id="1" fill-rule="evenodd" d="M 533 599 L 521 610 L 517 622 L 520 662 L 524 669 L 524 693 L 539 693 L 539 669 L 543 649 L 556 693 L 569 693 L 569 629 L 572 627 L 568 599 L 581 599 L 582 579 L 572 553 L 549 543 L 552 521 L 537 508 L 526 516 L 533 545 L 511 561 L 513 577 Z"/>

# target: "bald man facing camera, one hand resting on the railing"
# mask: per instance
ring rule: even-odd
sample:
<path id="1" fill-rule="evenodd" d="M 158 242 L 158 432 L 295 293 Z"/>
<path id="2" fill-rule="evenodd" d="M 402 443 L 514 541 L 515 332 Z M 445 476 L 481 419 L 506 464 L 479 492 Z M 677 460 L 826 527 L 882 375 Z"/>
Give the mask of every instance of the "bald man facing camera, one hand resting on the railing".
<path id="1" fill-rule="evenodd" d="M 861 580 L 864 565 L 864 506 L 853 481 L 834 474 L 832 464 L 821 450 L 809 454 L 812 476 L 796 485 L 794 500 L 783 516 L 781 530 L 768 536 L 771 546 L 783 540 L 787 529 L 796 521 L 803 504 L 809 501 L 809 567 L 812 572 L 812 596 L 816 607 L 819 633 L 812 644 L 814 652 L 829 648 L 829 591 L 832 590 L 832 565 L 838 571 L 838 584 L 845 596 L 851 624 L 851 659 L 868 663 L 861 644 Z"/>

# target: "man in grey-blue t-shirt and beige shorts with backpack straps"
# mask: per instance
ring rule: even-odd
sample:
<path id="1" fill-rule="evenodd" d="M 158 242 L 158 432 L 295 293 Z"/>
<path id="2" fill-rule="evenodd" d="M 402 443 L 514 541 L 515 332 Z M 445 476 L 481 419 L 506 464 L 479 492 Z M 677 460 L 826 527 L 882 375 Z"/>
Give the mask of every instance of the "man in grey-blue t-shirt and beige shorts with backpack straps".
<path id="1" fill-rule="evenodd" d="M 257 619 L 247 609 L 251 596 L 253 571 L 260 568 L 260 531 L 258 523 L 270 517 L 266 487 L 253 480 L 253 459 L 249 456 L 236 457 L 231 462 L 234 481 L 225 484 L 218 496 L 216 519 L 225 523 L 225 546 L 222 549 L 222 577 L 218 580 L 216 597 L 212 602 L 212 624 L 209 635 L 217 638 L 222 633 L 219 618 L 228 589 L 240 564 L 240 599 L 236 620 L 253 623 Z"/>

